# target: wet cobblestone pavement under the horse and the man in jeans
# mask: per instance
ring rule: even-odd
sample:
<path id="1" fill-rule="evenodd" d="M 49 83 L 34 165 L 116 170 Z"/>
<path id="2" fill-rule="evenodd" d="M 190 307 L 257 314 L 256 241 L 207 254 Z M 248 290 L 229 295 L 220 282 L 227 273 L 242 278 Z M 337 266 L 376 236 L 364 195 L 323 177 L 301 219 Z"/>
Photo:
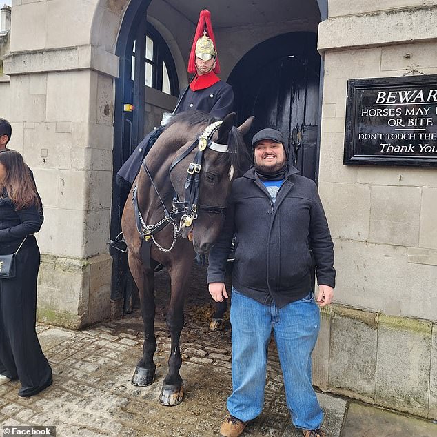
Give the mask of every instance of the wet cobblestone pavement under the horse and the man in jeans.
<path id="1" fill-rule="evenodd" d="M 180 405 L 162 407 L 157 400 L 170 349 L 165 303 L 161 302 L 156 316 L 154 384 L 144 388 L 130 384 L 143 342 L 139 312 L 81 332 L 39 325 L 39 338 L 53 368 L 54 384 L 27 399 L 18 398 L 17 382 L 0 386 L 0 424 L 55 425 L 61 437 L 218 436 L 231 390 L 230 331 L 209 332 L 212 305 L 193 305 L 194 301 L 188 298 L 187 323 L 181 337 L 185 400 Z M 270 345 L 269 356 L 265 408 L 243 436 L 301 436 L 290 423 L 285 407 L 274 344 Z M 437 425 L 425 420 L 330 394 L 318 396 L 325 411 L 323 426 L 328 437 L 437 436 Z M 0 429 L 3 435 L 3 427 Z"/>

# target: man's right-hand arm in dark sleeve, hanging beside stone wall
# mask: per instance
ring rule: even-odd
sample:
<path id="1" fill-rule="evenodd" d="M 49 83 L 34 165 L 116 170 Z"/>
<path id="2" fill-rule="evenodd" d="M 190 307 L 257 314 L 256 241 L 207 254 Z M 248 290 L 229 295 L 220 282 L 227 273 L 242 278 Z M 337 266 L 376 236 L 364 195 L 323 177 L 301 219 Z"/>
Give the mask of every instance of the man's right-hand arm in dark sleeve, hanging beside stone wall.
<path id="1" fill-rule="evenodd" d="M 329 305 L 334 296 L 336 271 L 334 269 L 334 244 L 316 184 L 314 184 L 314 202 L 309 213 L 309 244 L 316 261 L 319 287 L 317 302 L 323 307 Z"/>

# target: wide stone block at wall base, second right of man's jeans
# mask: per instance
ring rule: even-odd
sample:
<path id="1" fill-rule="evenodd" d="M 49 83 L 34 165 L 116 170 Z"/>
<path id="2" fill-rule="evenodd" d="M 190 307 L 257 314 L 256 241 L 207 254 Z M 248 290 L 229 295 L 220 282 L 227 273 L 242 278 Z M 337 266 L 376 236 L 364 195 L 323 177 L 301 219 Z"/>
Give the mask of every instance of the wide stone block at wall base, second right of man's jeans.
<path id="1" fill-rule="evenodd" d="M 426 417 L 432 323 L 380 315 L 376 403 Z"/>

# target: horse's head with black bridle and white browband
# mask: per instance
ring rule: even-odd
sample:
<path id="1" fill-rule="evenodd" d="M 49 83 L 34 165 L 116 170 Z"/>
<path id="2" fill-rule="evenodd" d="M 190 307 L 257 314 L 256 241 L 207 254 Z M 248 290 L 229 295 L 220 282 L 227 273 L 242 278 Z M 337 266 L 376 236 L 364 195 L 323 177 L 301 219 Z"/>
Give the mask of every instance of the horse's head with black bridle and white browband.
<path id="1" fill-rule="evenodd" d="M 213 130 L 212 141 L 206 142 L 204 150 L 201 150 L 205 146 L 201 138 L 199 145 L 170 172 L 179 199 L 184 199 L 190 208 L 194 203 L 194 208 L 181 221 L 182 236 L 192 239 L 194 250 L 200 254 L 210 250 L 219 236 L 232 181 L 248 157 L 243 135 L 250 129 L 254 118 L 250 117 L 235 128 L 235 117 L 234 113 L 225 116 L 219 128 Z M 201 137 L 203 132 L 200 132 Z M 182 150 L 186 152 L 191 144 Z M 179 156 L 183 156 L 183 152 Z M 199 190 L 196 192 L 197 184 Z"/>

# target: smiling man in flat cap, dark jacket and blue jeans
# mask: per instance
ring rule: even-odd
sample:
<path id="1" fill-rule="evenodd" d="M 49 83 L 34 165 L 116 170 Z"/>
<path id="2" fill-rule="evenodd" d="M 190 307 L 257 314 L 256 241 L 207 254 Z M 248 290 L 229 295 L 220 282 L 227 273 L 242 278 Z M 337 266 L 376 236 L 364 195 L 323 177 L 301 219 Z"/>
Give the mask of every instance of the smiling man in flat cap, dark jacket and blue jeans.
<path id="1" fill-rule="evenodd" d="M 221 434 L 237 437 L 261 413 L 267 345 L 273 329 L 287 407 L 305 437 L 324 437 L 323 412 L 311 380 L 320 327 L 318 306 L 331 303 L 334 251 L 314 181 L 287 161 L 281 132 L 263 129 L 252 141 L 254 167 L 232 186 L 219 241 L 210 252 L 207 282 L 215 301 L 227 298 L 226 258 L 232 236 L 232 383 L 230 416 Z M 311 289 L 312 255 L 319 285 Z"/>

